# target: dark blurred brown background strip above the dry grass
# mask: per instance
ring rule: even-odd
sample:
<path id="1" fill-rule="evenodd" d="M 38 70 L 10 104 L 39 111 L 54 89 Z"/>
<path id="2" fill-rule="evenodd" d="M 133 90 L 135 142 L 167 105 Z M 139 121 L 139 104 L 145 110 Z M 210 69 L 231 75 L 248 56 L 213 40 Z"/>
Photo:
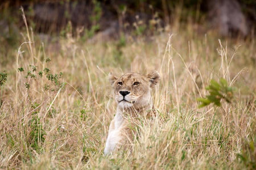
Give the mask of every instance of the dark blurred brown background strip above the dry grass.
<path id="1" fill-rule="evenodd" d="M 189 18 L 205 33 L 216 29 L 221 36 L 251 36 L 255 31 L 256 1 L 1 1 L 0 34 L 11 37 L 23 26 L 20 7 L 24 8 L 28 23 L 35 32 L 61 33 L 71 22 L 73 33 L 89 37 L 101 33 L 104 37 L 118 36 L 118 32 L 147 28 L 165 28 L 175 22 L 177 7 L 180 20 Z M 80 30 L 80 31 L 79 31 Z M 82 30 L 82 31 L 81 31 Z"/>

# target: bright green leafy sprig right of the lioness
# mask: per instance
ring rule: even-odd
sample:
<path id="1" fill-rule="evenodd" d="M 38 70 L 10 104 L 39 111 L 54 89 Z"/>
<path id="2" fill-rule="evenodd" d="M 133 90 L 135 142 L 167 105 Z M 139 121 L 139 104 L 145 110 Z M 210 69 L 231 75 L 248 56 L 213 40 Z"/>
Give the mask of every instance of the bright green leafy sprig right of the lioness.
<path id="1" fill-rule="evenodd" d="M 197 101 L 200 101 L 201 104 L 199 108 L 205 107 L 211 103 L 221 106 L 221 99 L 224 99 L 226 102 L 230 103 L 233 98 L 234 88 L 228 86 L 228 82 L 224 78 L 220 79 L 220 83 L 216 80 L 210 80 L 210 85 L 206 88 L 209 91 L 209 95 L 205 98 L 199 98 Z"/>

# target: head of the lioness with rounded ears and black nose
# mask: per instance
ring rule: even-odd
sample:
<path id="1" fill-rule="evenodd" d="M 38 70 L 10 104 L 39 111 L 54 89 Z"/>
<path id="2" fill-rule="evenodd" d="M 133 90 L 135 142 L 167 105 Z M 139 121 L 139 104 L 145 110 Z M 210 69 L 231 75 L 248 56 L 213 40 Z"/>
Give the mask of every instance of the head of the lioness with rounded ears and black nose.
<path id="1" fill-rule="evenodd" d="M 140 73 L 126 73 L 117 78 L 109 73 L 109 82 L 112 84 L 115 101 L 119 108 L 148 108 L 151 101 L 151 88 L 160 80 L 157 71 L 147 75 Z"/>

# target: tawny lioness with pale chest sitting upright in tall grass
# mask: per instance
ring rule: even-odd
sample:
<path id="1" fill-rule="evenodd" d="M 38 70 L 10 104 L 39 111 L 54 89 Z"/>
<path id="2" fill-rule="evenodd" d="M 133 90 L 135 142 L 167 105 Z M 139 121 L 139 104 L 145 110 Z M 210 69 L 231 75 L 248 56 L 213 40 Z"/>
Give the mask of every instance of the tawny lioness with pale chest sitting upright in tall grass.
<path id="1" fill-rule="evenodd" d="M 117 102 L 117 113 L 109 126 L 105 155 L 123 145 L 126 138 L 129 138 L 129 124 L 125 119 L 127 114 L 133 117 L 152 109 L 150 91 L 159 80 L 157 71 L 151 71 L 147 75 L 129 72 L 120 78 L 109 73 L 109 82 Z"/>

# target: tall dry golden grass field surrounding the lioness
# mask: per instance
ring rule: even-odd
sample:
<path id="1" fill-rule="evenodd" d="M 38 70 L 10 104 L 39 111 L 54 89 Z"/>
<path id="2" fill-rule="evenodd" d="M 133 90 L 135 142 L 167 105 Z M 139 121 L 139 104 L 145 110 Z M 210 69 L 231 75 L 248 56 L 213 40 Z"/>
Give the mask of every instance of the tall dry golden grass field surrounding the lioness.
<path id="1" fill-rule="evenodd" d="M 23 32 L 27 43 L 1 54 L 0 71 L 8 76 L 1 86 L 0 167 L 253 169 L 255 39 L 218 40 L 192 26 L 176 25 L 171 36 L 104 42 L 67 34 L 42 43 Z M 162 78 L 153 92 L 156 118 L 141 118 L 131 150 L 104 156 L 115 113 L 108 73 L 152 69 Z M 234 99 L 199 109 L 196 99 L 208 94 L 212 78 L 236 87 Z"/>

